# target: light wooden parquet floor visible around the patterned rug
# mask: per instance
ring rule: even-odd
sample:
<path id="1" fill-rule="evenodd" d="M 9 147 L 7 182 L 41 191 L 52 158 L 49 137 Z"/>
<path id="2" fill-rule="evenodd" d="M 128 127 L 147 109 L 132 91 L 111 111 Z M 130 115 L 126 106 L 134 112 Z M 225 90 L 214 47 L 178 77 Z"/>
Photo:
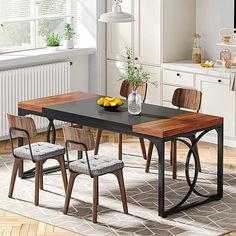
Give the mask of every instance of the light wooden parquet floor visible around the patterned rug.
<path id="1" fill-rule="evenodd" d="M 95 132 L 95 131 L 94 131 Z M 36 140 L 45 140 L 45 134 L 39 134 Z M 57 132 L 57 141 L 63 142 L 62 132 Z M 103 133 L 103 142 L 117 142 L 117 134 L 110 132 Z M 124 147 L 137 148 L 139 142 L 137 138 L 124 136 Z M 148 142 L 146 142 L 148 146 Z M 166 146 L 166 152 L 169 153 L 169 145 Z M 202 164 L 215 165 L 216 163 L 216 146 L 209 143 L 199 144 L 200 157 Z M 11 149 L 8 141 L 0 142 L 0 155 L 10 154 Z M 186 158 L 187 149 L 183 145 L 178 146 L 178 159 Z M 236 169 L 236 149 L 224 148 L 224 165 L 227 168 Z M 0 210 L 0 236 L 72 236 L 78 235 L 63 229 L 38 222 L 23 216 L 15 215 L 10 212 Z M 236 236 L 236 232 L 226 234 L 226 236 Z"/>

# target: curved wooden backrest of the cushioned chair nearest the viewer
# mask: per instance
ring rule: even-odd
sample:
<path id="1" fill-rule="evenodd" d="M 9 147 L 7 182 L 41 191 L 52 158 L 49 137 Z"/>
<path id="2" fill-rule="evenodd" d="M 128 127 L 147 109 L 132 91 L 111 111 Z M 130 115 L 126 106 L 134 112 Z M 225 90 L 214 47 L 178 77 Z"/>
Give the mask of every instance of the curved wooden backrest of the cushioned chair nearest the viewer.
<path id="1" fill-rule="evenodd" d="M 86 145 L 87 150 L 94 150 L 95 142 L 93 134 L 90 130 L 87 129 L 79 129 L 74 127 L 63 127 L 63 134 L 65 141 L 74 141 L 80 142 Z M 78 151 L 85 151 L 85 147 L 79 144 L 69 144 L 70 150 L 78 150 Z"/>

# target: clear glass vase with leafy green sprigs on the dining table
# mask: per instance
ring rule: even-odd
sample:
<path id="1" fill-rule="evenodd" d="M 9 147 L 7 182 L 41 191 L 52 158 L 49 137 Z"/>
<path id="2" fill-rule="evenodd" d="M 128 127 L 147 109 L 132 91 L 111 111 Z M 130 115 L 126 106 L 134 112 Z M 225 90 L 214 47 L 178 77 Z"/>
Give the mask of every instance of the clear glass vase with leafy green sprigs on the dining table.
<path id="1" fill-rule="evenodd" d="M 134 57 L 133 50 L 126 48 L 126 55 L 122 56 L 126 61 L 126 67 L 122 73 L 120 80 L 132 85 L 132 92 L 128 96 L 128 112 L 132 115 L 139 115 L 142 111 L 142 99 L 138 93 L 138 87 L 144 83 L 157 85 L 156 82 L 150 82 L 150 74 L 143 69 L 142 65 L 137 65 L 138 58 Z"/>

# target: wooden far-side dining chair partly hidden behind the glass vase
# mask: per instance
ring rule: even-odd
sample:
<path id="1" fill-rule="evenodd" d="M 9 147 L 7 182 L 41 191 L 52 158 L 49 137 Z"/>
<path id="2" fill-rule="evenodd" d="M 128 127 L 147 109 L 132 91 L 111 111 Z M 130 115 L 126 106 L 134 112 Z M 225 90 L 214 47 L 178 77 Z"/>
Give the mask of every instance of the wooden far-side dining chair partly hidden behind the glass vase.
<path id="1" fill-rule="evenodd" d="M 128 83 L 127 81 L 123 81 L 120 87 L 120 96 L 128 99 L 129 94 L 132 92 L 133 86 Z M 146 94 L 147 94 L 147 83 L 143 83 L 142 86 L 138 87 L 138 93 L 141 95 L 142 102 L 144 103 L 146 100 Z M 102 136 L 102 129 L 97 129 L 96 132 L 96 143 L 95 143 L 95 150 L 94 154 L 98 154 L 100 140 Z M 139 138 L 139 142 L 141 145 L 142 155 L 143 158 L 146 160 L 146 149 L 145 149 L 145 143 L 143 138 Z M 122 160 L 122 133 L 118 133 L 118 157 L 119 160 Z"/>

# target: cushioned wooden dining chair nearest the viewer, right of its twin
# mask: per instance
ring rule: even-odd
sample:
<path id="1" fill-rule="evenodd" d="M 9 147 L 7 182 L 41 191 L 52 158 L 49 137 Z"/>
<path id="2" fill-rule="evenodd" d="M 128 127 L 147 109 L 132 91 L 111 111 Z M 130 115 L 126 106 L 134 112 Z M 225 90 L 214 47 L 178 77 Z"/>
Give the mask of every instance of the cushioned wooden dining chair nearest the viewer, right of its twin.
<path id="1" fill-rule="evenodd" d="M 111 157 L 101 155 L 88 155 L 88 151 L 94 150 L 95 141 L 91 131 L 86 129 L 79 129 L 74 127 L 63 127 L 66 157 L 68 168 L 70 171 L 69 184 L 66 191 L 66 199 L 64 205 L 64 214 L 68 213 L 71 193 L 75 178 L 78 175 L 86 174 L 93 178 L 93 222 L 97 222 L 97 207 L 99 204 L 98 197 L 98 180 L 99 176 L 105 174 L 114 174 L 119 183 L 121 200 L 124 213 L 128 214 L 128 206 L 125 193 L 125 185 L 123 179 L 123 167 L 124 163 L 121 160 L 113 159 Z M 70 161 L 69 150 L 76 150 L 85 152 L 85 157 L 75 161 Z"/>

